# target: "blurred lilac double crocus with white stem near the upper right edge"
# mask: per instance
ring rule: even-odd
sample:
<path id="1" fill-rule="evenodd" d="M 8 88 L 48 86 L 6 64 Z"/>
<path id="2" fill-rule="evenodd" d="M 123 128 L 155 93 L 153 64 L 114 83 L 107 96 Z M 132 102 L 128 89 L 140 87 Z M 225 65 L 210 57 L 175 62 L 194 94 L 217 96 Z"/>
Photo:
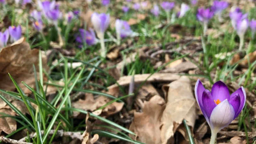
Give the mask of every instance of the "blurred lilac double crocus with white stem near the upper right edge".
<path id="1" fill-rule="evenodd" d="M 247 18 L 247 13 L 243 14 L 239 8 L 232 7 L 229 13 L 231 24 L 236 30 L 237 35 L 240 39 L 239 50 L 242 50 L 244 45 L 244 34 L 249 26 L 249 20 Z"/>

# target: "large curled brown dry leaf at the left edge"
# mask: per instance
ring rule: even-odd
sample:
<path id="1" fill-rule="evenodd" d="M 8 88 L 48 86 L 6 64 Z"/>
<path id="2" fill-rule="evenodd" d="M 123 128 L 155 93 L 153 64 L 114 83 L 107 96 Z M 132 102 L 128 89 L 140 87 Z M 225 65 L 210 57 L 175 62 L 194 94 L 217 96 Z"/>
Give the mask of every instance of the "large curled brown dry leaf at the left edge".
<path id="1" fill-rule="evenodd" d="M 25 38 L 20 38 L 10 46 L 3 48 L 0 51 L 0 89 L 15 90 L 15 86 L 8 75 L 10 73 L 21 89 L 25 93 L 30 93 L 26 86 L 21 84 L 21 81 L 30 86 L 35 84 L 33 64 L 36 66 L 37 76 L 39 76 L 38 56 L 39 50 L 31 50 Z M 43 68 L 47 71 L 46 56 L 43 54 L 42 62 Z"/>

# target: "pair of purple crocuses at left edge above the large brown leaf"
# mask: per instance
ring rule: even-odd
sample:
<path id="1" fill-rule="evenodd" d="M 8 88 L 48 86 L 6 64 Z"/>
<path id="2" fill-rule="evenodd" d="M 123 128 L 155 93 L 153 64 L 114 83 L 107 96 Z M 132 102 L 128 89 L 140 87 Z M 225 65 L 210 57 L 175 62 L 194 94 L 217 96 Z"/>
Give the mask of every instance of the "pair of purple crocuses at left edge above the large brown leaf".
<path id="1" fill-rule="evenodd" d="M 5 47 L 7 45 L 9 35 L 11 36 L 10 41 L 14 42 L 20 39 L 21 37 L 21 26 L 10 26 L 3 33 L 0 32 L 0 48 Z"/>

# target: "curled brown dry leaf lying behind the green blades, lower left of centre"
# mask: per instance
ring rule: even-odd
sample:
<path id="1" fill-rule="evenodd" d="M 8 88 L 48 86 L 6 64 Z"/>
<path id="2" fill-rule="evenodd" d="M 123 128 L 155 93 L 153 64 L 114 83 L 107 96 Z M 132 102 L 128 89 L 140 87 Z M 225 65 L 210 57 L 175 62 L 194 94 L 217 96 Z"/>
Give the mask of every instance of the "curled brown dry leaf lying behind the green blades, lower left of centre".
<path id="1" fill-rule="evenodd" d="M 93 98 L 93 95 L 86 94 L 85 99 L 79 99 L 78 101 L 75 101 L 72 103 L 72 106 L 74 108 L 84 109 L 88 111 L 94 111 L 97 108 L 100 108 L 101 106 L 107 104 L 109 101 L 111 101 L 109 98 L 100 96 L 96 99 Z M 108 117 L 110 115 L 113 115 L 117 112 L 119 112 L 124 106 L 124 103 L 121 102 L 113 102 L 107 107 L 105 107 L 102 111 L 100 116 Z M 99 111 L 97 111 L 99 112 Z M 74 112 L 74 116 L 78 116 L 79 112 Z M 99 115 L 99 114 L 98 114 Z"/>

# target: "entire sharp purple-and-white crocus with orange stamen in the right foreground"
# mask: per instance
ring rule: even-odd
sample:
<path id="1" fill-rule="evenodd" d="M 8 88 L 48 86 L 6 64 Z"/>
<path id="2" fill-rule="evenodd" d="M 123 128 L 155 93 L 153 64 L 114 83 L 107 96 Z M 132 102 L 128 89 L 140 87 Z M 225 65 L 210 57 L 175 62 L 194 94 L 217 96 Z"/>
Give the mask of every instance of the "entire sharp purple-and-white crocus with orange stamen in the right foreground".
<path id="1" fill-rule="evenodd" d="M 195 96 L 196 102 L 211 128 L 210 144 L 214 144 L 217 133 L 228 126 L 244 108 L 245 90 L 242 86 L 230 95 L 226 84 L 218 81 L 213 84 L 210 92 L 204 88 L 200 80 L 197 80 Z"/>

